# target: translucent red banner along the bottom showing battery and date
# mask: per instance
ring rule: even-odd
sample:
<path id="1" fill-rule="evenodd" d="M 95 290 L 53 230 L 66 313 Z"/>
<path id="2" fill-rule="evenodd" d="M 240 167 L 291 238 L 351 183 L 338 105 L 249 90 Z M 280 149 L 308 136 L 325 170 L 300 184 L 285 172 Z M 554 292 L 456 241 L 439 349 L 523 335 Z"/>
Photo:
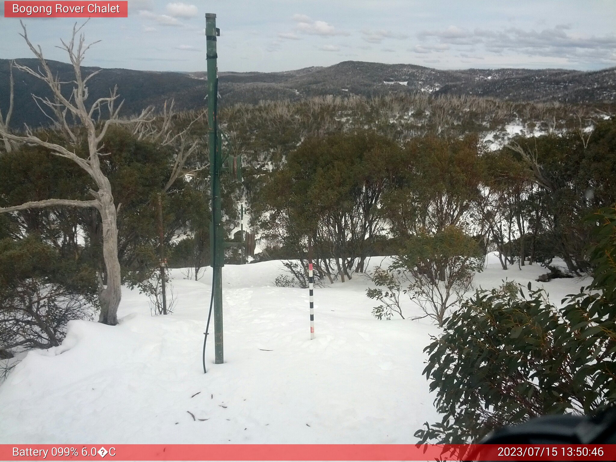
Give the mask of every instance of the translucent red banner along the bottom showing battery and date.
<path id="1" fill-rule="evenodd" d="M 616 460 L 616 445 L 4 444 L 0 445 L 0 460 L 614 461 Z"/>

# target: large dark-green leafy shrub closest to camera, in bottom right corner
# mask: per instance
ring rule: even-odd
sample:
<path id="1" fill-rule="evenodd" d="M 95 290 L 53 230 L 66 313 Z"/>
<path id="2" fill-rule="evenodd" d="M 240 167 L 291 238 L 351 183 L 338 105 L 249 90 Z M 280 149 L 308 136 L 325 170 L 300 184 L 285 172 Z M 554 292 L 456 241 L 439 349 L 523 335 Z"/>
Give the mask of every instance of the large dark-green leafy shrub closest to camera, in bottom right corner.
<path id="1" fill-rule="evenodd" d="M 601 227 L 590 288 L 567 296 L 561 309 L 530 283 L 527 295 L 511 283 L 477 291 L 432 338 L 424 375 L 443 419 L 416 432 L 422 442 L 477 441 L 534 416 L 616 403 L 614 208 L 593 219 Z"/>

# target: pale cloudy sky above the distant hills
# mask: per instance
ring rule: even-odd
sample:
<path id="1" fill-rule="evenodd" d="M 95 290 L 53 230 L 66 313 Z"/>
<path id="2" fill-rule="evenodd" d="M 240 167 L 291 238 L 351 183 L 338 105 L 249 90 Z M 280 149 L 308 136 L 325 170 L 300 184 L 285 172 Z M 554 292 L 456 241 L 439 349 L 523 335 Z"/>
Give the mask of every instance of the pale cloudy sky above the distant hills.
<path id="1" fill-rule="evenodd" d="M 113 3 L 113 1 L 111 1 Z M 4 9 L 0 3 L 0 11 Z M 221 29 L 221 71 L 282 71 L 346 60 L 439 69 L 616 66 L 614 0 L 129 0 L 92 18 L 86 65 L 205 70 L 205 13 Z M 0 17 L 0 58 L 30 57 L 19 20 Z M 49 59 L 74 20 L 26 19 Z"/>

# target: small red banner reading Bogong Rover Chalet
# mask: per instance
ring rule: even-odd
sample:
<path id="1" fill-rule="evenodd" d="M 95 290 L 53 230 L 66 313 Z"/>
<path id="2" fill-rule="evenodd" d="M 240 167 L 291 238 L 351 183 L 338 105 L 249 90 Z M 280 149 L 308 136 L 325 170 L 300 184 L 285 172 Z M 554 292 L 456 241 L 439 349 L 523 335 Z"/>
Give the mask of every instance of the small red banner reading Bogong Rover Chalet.
<path id="1" fill-rule="evenodd" d="M 4 2 L 5 18 L 127 18 L 128 1 Z"/>

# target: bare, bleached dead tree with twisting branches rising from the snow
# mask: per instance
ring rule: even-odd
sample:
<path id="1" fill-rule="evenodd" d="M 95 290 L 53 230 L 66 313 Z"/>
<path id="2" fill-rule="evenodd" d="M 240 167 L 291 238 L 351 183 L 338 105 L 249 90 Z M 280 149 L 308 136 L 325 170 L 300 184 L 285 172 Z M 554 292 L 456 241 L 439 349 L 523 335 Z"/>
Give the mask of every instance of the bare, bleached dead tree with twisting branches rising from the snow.
<path id="1" fill-rule="evenodd" d="M 107 129 L 113 124 L 132 124 L 139 123 L 140 121 L 147 120 L 148 116 L 152 112 L 152 108 L 147 108 L 142 111 L 141 115 L 131 120 L 122 120 L 119 118 L 120 109 L 122 104 L 115 108 L 115 100 L 118 99 L 116 91 L 112 91 L 110 97 L 99 98 L 92 105 L 86 107 L 86 99 L 88 96 L 86 83 L 94 75 L 99 73 L 95 71 L 90 75 L 84 77 L 81 74 L 81 63 L 84 59 L 84 54 L 92 44 L 84 44 L 84 35 L 80 34 L 79 39 L 76 42 L 76 36 L 81 30 L 83 25 L 79 28 L 75 25 L 73 27 L 73 34 L 70 42 L 65 43 L 62 41 L 61 49 L 67 51 L 70 58 L 73 70 L 75 71 L 75 80 L 71 82 L 61 82 L 54 76 L 43 57 L 43 51 L 41 47 L 34 47 L 28 39 L 26 28 L 22 23 L 23 34 L 20 34 L 26 41 L 30 50 L 36 55 L 41 65 L 38 71 L 15 64 L 18 70 L 24 71 L 38 79 L 44 81 L 49 86 L 52 92 L 52 99 L 41 98 L 33 95 L 34 100 L 38 106 L 45 112 L 43 106 L 46 106 L 55 116 L 55 122 L 59 126 L 65 136 L 67 136 L 67 146 L 62 146 L 55 143 L 47 142 L 36 136 L 30 128 L 26 127 L 25 134 L 11 134 L 6 129 L 6 126 L 0 126 L 0 136 L 4 139 L 9 139 L 17 143 L 26 143 L 31 145 L 39 145 L 49 149 L 54 155 L 68 158 L 74 161 L 78 166 L 83 169 L 91 178 L 97 187 L 97 190 L 90 190 L 94 200 L 81 201 L 81 200 L 64 200 L 64 199 L 49 199 L 44 201 L 26 202 L 22 205 L 0 208 L 0 213 L 7 213 L 17 210 L 30 209 L 30 208 L 43 208 L 53 206 L 70 206 L 70 207 L 94 207 L 96 208 L 102 220 L 103 230 L 103 259 L 105 262 L 105 276 L 107 278 L 107 284 L 103 285 L 102 275 L 99 274 L 100 284 L 100 317 L 99 322 L 115 325 L 118 323 L 117 311 L 121 298 L 121 274 L 120 274 L 120 261 L 118 260 L 118 226 L 117 226 L 117 213 L 118 209 L 113 202 L 113 194 L 111 192 L 111 184 L 109 179 L 103 174 L 100 166 L 99 156 L 105 155 L 100 152 L 103 148 L 103 138 L 107 133 Z M 62 94 L 63 84 L 73 84 L 73 91 L 70 96 L 65 97 Z M 102 106 L 107 105 L 109 110 L 108 119 L 103 123 L 97 124 L 93 118 L 95 111 L 99 111 Z M 75 127 L 71 127 L 67 123 L 67 113 L 72 115 L 75 120 L 81 122 L 84 131 L 87 135 L 87 157 L 81 157 L 71 150 L 72 147 L 78 147 L 80 143 L 79 132 L 75 130 Z M 46 113 L 47 116 L 49 114 Z M 53 118 L 52 116 L 49 116 Z"/>

